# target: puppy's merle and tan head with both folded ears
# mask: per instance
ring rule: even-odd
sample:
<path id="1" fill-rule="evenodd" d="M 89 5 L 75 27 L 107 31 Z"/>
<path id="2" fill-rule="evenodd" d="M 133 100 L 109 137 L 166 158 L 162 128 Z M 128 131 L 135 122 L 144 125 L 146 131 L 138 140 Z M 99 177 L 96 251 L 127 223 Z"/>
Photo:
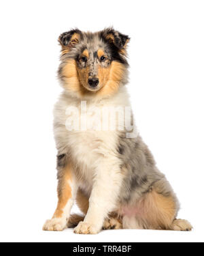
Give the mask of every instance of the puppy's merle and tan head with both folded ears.
<path id="1" fill-rule="evenodd" d="M 126 81 L 126 45 L 129 37 L 112 28 L 97 33 L 79 29 L 62 33 L 58 77 L 69 93 L 111 96 Z"/>

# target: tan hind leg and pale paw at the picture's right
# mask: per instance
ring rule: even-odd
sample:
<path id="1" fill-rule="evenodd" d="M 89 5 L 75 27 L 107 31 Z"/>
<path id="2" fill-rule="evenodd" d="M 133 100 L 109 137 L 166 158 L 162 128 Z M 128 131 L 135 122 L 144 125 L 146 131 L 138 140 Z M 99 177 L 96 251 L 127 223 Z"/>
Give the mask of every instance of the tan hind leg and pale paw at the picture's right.
<path id="1" fill-rule="evenodd" d="M 163 195 L 157 188 L 141 198 L 135 206 L 126 208 L 122 225 L 127 229 L 169 229 L 188 231 L 188 221 L 176 219 L 177 201 L 173 193 Z M 132 213 L 132 214 L 131 214 Z M 130 215 L 131 214 L 131 215 Z"/>

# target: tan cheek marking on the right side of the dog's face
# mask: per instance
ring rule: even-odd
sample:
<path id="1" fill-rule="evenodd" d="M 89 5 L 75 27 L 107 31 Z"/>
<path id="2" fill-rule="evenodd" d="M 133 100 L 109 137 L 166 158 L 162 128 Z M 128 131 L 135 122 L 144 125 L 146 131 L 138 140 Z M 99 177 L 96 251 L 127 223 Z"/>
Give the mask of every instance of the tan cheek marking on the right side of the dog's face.
<path id="1" fill-rule="evenodd" d="M 97 92 L 97 94 L 99 96 L 111 96 L 116 91 L 118 91 L 120 81 L 124 75 L 124 70 L 125 67 L 118 61 L 112 61 L 112 64 L 109 66 L 109 68 L 103 68 L 100 76 L 105 84 L 103 85 L 103 88 Z"/>

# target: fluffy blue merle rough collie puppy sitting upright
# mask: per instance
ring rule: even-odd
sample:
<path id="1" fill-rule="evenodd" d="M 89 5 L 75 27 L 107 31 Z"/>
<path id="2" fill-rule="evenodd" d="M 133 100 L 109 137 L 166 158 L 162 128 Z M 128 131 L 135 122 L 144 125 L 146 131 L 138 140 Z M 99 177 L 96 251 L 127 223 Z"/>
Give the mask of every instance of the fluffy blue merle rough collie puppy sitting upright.
<path id="1" fill-rule="evenodd" d="M 129 36 L 74 29 L 58 41 L 64 88 L 54 108 L 58 204 L 43 229 L 192 229 L 176 218 L 177 197 L 133 124 L 125 87 Z M 70 215 L 74 201 L 84 216 Z"/>

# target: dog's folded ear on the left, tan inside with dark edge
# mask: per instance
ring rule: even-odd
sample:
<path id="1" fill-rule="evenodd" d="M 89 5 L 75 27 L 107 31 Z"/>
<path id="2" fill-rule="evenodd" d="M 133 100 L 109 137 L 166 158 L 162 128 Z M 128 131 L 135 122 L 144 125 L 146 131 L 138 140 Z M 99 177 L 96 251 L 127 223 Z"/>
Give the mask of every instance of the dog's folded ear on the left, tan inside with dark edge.
<path id="1" fill-rule="evenodd" d="M 62 33 L 58 37 L 58 42 L 62 46 L 62 54 L 68 53 L 71 48 L 80 42 L 82 32 L 79 29 L 72 29 L 68 32 Z"/>

